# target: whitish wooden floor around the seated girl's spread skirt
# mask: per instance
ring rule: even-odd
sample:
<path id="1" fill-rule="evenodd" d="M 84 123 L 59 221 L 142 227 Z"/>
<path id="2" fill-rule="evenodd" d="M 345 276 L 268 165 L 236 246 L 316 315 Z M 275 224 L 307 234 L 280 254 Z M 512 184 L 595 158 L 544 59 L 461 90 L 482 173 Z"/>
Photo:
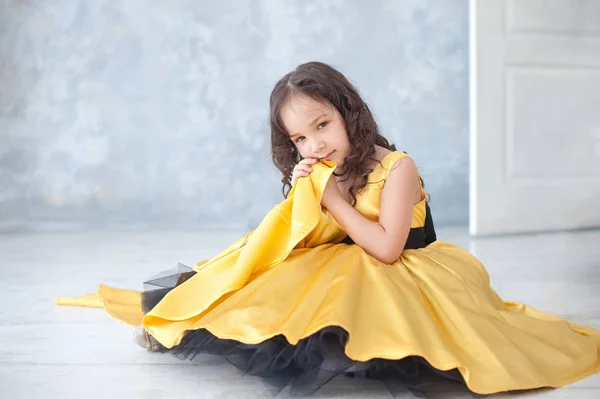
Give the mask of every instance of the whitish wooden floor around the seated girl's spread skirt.
<path id="1" fill-rule="evenodd" d="M 272 397 L 260 381 L 220 359 L 199 366 L 147 353 L 133 344 L 130 327 L 103 311 L 53 302 L 95 292 L 100 282 L 139 289 L 155 272 L 210 258 L 241 234 L 0 235 L 0 398 Z M 439 238 L 478 256 L 505 300 L 600 328 L 600 231 L 473 241 L 464 230 L 440 230 Z M 391 397 L 377 382 L 347 378 L 318 396 Z M 600 375 L 516 397 L 600 398 Z"/>

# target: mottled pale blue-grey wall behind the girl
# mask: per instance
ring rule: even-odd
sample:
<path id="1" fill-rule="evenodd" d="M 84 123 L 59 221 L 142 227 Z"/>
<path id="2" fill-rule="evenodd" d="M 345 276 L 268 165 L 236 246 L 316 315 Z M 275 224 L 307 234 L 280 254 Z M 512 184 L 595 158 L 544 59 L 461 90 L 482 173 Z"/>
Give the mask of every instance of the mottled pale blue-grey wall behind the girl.
<path id="1" fill-rule="evenodd" d="M 0 0 L 0 229 L 253 228 L 268 97 L 321 60 L 468 217 L 467 1 Z"/>

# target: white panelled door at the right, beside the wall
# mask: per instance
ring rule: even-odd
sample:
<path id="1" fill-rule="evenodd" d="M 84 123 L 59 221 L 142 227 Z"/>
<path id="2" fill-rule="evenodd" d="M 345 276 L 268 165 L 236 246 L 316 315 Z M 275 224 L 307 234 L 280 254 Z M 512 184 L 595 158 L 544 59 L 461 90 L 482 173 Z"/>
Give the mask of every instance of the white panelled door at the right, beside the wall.
<path id="1" fill-rule="evenodd" d="M 600 1 L 470 1 L 470 232 L 600 226 Z"/>

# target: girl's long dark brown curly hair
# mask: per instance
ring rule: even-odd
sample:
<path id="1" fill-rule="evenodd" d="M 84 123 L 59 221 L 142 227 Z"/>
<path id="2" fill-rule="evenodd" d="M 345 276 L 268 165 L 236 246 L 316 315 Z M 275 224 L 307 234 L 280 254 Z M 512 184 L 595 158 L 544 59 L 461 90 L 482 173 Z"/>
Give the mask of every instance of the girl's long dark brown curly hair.
<path id="1" fill-rule="evenodd" d="M 281 110 L 295 95 L 331 104 L 344 119 L 351 154 L 344 160 L 342 171 L 335 175 L 344 181 L 358 177 L 350 187 L 354 206 L 356 194 L 367 185 L 369 173 L 373 171 L 367 164 L 368 160 L 375 160 L 375 145 L 391 151 L 396 151 L 396 146 L 379 133 L 371 110 L 342 73 L 322 62 L 302 64 L 277 82 L 270 99 L 271 156 L 283 174 L 284 197 L 287 198 L 292 188 L 294 166 L 302 159 L 281 121 Z"/>

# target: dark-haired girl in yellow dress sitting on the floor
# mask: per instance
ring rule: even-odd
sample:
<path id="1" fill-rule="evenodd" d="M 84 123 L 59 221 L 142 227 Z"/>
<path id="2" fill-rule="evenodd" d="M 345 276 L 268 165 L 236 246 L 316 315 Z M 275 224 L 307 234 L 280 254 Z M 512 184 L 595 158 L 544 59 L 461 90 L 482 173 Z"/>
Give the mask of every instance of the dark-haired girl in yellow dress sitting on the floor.
<path id="1" fill-rule="evenodd" d="M 256 230 L 141 295 L 101 286 L 59 303 L 91 299 L 141 323 L 148 350 L 220 354 L 292 393 L 342 374 L 491 394 L 600 371 L 598 331 L 504 302 L 477 259 L 436 240 L 415 163 L 340 72 L 300 65 L 270 108 L 285 200 Z"/>

